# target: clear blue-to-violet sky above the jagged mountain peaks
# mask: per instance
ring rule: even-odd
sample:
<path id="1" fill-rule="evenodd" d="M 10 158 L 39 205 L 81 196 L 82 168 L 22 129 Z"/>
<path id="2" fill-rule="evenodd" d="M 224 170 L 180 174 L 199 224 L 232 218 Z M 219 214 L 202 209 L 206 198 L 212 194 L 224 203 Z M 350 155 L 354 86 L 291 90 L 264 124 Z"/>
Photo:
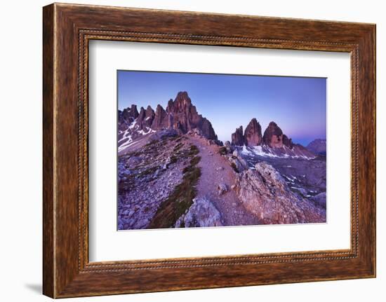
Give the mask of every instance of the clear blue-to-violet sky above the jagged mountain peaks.
<path id="1" fill-rule="evenodd" d="M 326 78 L 121 70 L 117 76 L 119 109 L 166 109 L 169 99 L 186 91 L 222 142 L 252 118 L 262 134 L 274 121 L 295 143 L 326 139 Z"/>

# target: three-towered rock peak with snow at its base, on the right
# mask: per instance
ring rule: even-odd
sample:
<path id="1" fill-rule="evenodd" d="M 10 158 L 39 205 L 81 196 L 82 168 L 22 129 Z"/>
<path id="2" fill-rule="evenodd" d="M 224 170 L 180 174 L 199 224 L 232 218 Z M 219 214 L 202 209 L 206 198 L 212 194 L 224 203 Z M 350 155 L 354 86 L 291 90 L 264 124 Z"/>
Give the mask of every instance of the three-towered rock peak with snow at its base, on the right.
<path id="1" fill-rule="evenodd" d="M 244 134 L 242 126 L 232 133 L 232 145 L 242 146 L 242 152 L 250 156 L 255 154 L 263 157 L 315 158 L 312 151 L 300 144 L 294 144 L 277 123 L 269 123 L 262 135 L 261 125 L 256 118 L 252 118 L 248 123 Z"/>

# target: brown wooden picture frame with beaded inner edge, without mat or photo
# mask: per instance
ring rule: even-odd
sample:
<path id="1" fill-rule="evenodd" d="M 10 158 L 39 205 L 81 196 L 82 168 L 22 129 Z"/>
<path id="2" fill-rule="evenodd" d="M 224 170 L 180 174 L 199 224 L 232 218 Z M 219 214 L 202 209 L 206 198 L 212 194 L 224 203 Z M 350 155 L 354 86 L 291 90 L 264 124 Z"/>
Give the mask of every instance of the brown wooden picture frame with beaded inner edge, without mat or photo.
<path id="1" fill-rule="evenodd" d="M 375 25 L 138 8 L 43 9 L 43 292 L 53 298 L 375 277 Z M 351 54 L 351 248 L 88 261 L 88 41 Z"/>

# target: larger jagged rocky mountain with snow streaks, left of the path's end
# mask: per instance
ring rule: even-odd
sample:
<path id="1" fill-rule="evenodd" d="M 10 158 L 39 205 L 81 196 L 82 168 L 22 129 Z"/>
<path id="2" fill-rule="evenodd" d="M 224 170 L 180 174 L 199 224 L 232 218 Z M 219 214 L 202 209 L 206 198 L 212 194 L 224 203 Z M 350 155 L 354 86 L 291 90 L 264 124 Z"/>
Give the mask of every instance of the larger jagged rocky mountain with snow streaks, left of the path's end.
<path id="1" fill-rule="evenodd" d="M 166 110 L 159 104 L 156 111 L 133 104 L 130 108 L 118 111 L 118 151 L 124 152 L 128 146 L 140 144 L 143 136 L 160 130 L 175 130 L 178 135 L 198 130 L 206 139 L 217 141 L 217 135 L 208 119 L 198 114 L 187 92 L 178 92 L 168 101 Z"/>

